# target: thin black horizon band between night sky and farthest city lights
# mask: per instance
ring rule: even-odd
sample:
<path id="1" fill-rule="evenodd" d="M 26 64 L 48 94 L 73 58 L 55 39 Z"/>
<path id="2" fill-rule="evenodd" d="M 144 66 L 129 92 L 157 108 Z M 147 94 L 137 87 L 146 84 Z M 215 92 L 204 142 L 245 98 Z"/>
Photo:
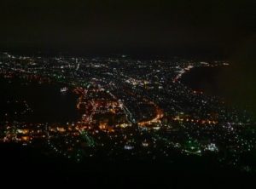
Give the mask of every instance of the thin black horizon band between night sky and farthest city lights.
<path id="1" fill-rule="evenodd" d="M 140 49 L 48 49 L 48 48 L 0 48 L 0 52 L 16 54 L 16 55 L 28 55 L 28 56 L 79 56 L 79 57 L 116 57 L 125 55 L 131 57 L 131 59 L 141 60 L 172 60 L 175 57 L 191 60 L 229 60 L 230 56 L 223 54 L 214 49 L 152 49 L 152 48 L 140 48 Z"/>

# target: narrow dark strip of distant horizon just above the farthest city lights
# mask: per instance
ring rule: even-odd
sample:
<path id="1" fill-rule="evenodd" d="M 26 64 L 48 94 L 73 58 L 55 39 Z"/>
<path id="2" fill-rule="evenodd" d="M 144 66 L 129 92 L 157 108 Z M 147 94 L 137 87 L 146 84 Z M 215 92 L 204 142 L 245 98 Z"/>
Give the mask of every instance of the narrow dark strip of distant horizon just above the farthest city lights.
<path id="1" fill-rule="evenodd" d="M 173 51 L 159 52 L 159 51 L 142 51 L 142 50 L 120 50 L 118 51 L 107 51 L 107 50 L 62 50 L 62 49 L 10 49 L 10 48 L 0 48 L 1 53 L 10 53 L 16 55 L 64 55 L 64 56 L 79 56 L 79 57 L 115 57 L 115 56 L 127 56 L 130 58 L 137 59 L 161 59 L 169 60 L 174 58 L 181 59 L 192 59 L 192 60 L 227 60 L 227 56 L 224 54 L 209 54 L 205 52 L 190 52 L 190 53 L 175 53 Z"/>

